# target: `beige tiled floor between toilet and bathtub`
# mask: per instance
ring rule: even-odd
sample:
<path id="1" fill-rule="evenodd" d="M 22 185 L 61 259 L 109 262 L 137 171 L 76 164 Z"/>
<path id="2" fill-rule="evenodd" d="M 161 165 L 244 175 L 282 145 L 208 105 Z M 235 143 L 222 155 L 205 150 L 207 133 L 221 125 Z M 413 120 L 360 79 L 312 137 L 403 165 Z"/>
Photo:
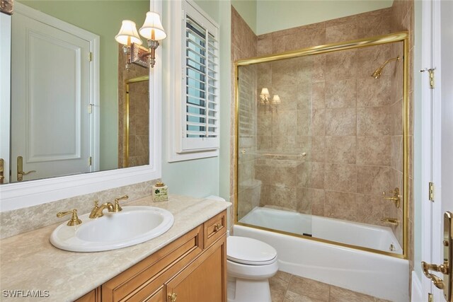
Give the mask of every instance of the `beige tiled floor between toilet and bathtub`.
<path id="1" fill-rule="evenodd" d="M 389 302 L 278 271 L 269 280 L 273 302 Z"/>

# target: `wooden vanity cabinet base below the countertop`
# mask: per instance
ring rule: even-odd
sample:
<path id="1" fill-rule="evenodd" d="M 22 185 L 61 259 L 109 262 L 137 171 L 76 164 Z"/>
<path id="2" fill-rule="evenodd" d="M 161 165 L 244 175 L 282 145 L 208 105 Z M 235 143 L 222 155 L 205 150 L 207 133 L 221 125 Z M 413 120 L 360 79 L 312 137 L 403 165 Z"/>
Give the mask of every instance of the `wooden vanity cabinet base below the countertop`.
<path id="1" fill-rule="evenodd" d="M 177 299 L 226 301 L 226 211 L 76 301 Z"/>

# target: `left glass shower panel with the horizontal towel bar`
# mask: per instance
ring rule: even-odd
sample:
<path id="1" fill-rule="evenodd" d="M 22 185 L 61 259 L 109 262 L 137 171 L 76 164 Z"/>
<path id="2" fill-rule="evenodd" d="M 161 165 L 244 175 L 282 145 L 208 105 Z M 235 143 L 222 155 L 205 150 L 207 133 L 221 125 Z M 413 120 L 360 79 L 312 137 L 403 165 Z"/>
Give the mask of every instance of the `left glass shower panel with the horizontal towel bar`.
<path id="1" fill-rule="evenodd" d="M 238 221 L 311 236 L 320 206 L 319 165 L 311 162 L 320 134 L 314 57 L 241 66 L 238 106 Z M 315 142 L 316 144 L 316 142 Z"/>

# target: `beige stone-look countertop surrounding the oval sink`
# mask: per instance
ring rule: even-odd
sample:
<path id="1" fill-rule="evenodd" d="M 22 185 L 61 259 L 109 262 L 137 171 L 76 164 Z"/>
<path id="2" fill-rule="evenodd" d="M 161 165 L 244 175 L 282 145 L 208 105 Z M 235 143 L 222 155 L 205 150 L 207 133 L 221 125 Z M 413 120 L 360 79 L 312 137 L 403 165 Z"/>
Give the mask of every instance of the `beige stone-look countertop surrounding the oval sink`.
<path id="1" fill-rule="evenodd" d="M 152 202 L 151 197 L 144 197 L 125 205 L 167 209 L 175 222 L 157 238 L 105 252 L 67 252 L 55 248 L 49 237 L 60 223 L 0 240 L 1 301 L 25 301 L 24 298 L 5 297 L 4 291 L 14 290 L 23 291 L 23 295 L 32 290 L 45 295 L 47 291 L 49 297 L 44 298 L 47 301 L 74 301 L 220 213 L 231 203 L 171 194 L 168 202 Z M 27 300 L 40 301 L 40 298 Z"/>

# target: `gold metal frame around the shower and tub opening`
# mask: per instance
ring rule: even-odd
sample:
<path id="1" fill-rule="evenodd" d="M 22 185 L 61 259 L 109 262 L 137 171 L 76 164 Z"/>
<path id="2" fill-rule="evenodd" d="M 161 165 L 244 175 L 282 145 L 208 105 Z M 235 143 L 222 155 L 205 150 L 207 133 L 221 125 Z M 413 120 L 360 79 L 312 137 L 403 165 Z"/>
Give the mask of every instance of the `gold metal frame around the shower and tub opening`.
<path id="1" fill-rule="evenodd" d="M 384 45 L 393 42 L 403 43 L 403 108 L 402 108 L 402 130 L 403 130 L 403 252 L 402 254 L 396 254 L 393 252 L 386 252 L 382 250 L 374 250 L 372 248 L 360 247 L 357 245 L 349 245 L 345 243 L 339 243 L 336 241 L 325 240 L 322 238 L 314 238 L 311 236 L 299 235 L 295 233 L 288 233 L 285 231 L 278 231 L 275 229 L 264 228 L 260 226 L 253 226 L 247 223 L 241 223 L 238 221 L 238 193 L 239 193 L 239 66 L 246 66 L 251 64 L 274 62 L 282 59 L 292 59 L 296 57 L 309 56 L 313 54 L 326 54 L 330 52 L 340 52 L 343 50 L 352 50 L 362 47 L 369 47 L 374 45 Z M 391 33 L 388 35 L 379 35 L 375 37 L 367 37 L 358 40 L 350 40 L 346 42 L 337 42 L 328 45 L 319 45 L 314 47 L 306 47 L 301 50 L 295 50 L 291 52 L 282 52 L 280 54 L 271 54 L 262 57 L 253 57 L 251 59 L 241 59 L 234 62 L 234 94 L 235 94 L 235 106 L 234 106 L 234 223 L 241 226 L 248 226 L 251 228 L 259 228 L 265 231 L 273 231 L 275 233 L 282 233 L 289 236 L 296 236 L 305 238 L 307 240 L 315 240 L 323 243 L 331 243 L 335 245 L 344 246 L 347 248 L 355 248 L 357 250 L 365 250 L 368 252 L 376 252 L 382 255 L 390 255 L 392 257 L 398 257 L 408 259 L 408 208 L 409 208 L 409 100 L 408 100 L 408 76 L 409 76 L 409 35 L 407 31 Z M 371 74 L 371 71 L 370 71 Z"/>

